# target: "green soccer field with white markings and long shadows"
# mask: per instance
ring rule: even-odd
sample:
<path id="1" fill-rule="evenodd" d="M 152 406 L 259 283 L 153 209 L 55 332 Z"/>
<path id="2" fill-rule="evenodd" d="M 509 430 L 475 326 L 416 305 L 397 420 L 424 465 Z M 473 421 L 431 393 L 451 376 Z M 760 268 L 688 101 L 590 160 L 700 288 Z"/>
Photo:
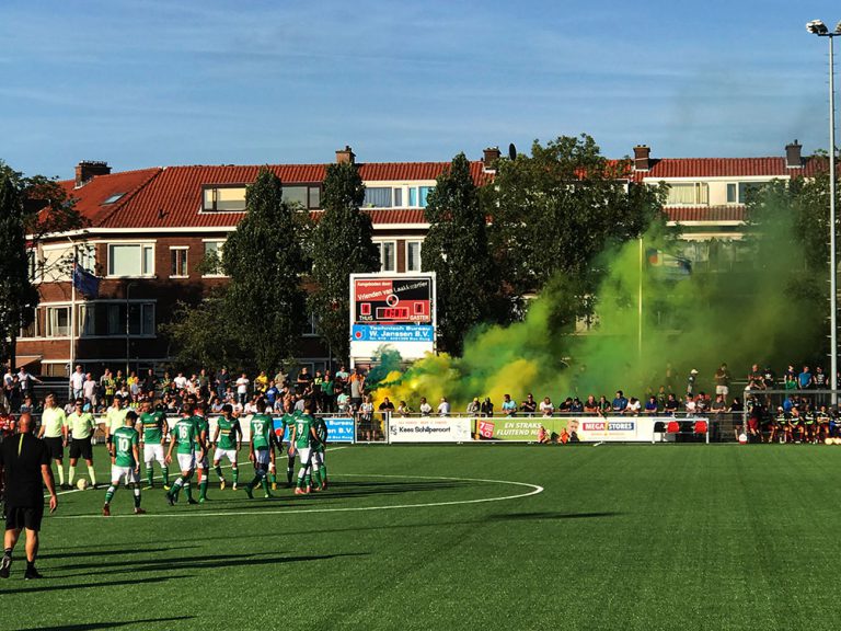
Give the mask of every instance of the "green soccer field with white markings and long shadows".
<path id="1" fill-rule="evenodd" d="M 212 474 L 205 505 L 155 490 L 135 516 L 120 489 L 105 518 L 104 491 L 62 493 L 46 578 L 22 580 L 19 547 L 0 628 L 834 630 L 839 459 L 357 446 L 329 451 L 332 486 L 312 496 L 249 501 Z"/>

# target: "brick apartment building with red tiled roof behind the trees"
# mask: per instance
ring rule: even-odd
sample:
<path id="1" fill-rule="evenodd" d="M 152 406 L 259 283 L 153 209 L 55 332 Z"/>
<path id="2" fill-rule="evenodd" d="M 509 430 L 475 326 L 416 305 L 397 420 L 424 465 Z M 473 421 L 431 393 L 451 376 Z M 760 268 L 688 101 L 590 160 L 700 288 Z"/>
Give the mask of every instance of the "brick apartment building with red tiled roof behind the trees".
<path id="1" fill-rule="evenodd" d="M 471 162 L 477 184 L 493 177 L 499 150 Z M 349 147 L 336 160 L 355 161 Z M 703 264 L 712 240 L 736 243 L 745 218 L 745 196 L 773 179 L 815 173 L 797 141 L 779 158 L 655 159 L 634 148 L 629 184 L 667 182 L 669 219 L 683 227 L 688 254 Z M 384 272 L 420 269 L 428 223 L 429 191 L 449 162 L 360 163 L 365 210 Z M 314 216 L 320 209 L 324 164 L 269 168 L 284 182 L 287 198 Z M 21 331 L 18 363 L 46 376 L 66 376 L 71 359 L 100 374 L 104 366 L 131 370 L 158 367 L 170 357 L 159 326 L 176 301 L 197 301 L 224 283 L 203 274 L 201 262 L 218 255 L 245 209 L 245 187 L 256 165 L 164 167 L 112 173 L 105 162 L 80 162 L 76 179 L 62 182 L 88 219 L 84 230 L 54 234 L 32 253 L 41 303 L 35 321 Z M 96 299 L 73 292 L 66 265 L 76 249 L 80 264 L 102 282 Z M 327 351 L 314 331 L 304 335 L 300 362 L 323 368 Z"/>

